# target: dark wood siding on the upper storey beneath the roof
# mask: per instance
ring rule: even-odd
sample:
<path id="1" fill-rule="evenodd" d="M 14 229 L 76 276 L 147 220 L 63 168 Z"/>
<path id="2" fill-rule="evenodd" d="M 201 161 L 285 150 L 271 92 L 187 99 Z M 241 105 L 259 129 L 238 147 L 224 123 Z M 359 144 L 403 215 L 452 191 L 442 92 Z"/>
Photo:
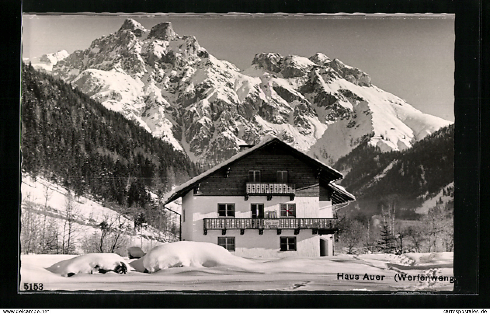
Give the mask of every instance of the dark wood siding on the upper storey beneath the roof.
<path id="1" fill-rule="evenodd" d="M 296 185 L 296 196 L 319 196 L 319 179 L 311 165 L 290 155 L 280 146 L 259 149 L 203 179 L 196 195 L 245 195 L 249 170 L 260 170 L 261 182 L 276 182 L 278 170 L 288 171 L 288 182 Z"/>

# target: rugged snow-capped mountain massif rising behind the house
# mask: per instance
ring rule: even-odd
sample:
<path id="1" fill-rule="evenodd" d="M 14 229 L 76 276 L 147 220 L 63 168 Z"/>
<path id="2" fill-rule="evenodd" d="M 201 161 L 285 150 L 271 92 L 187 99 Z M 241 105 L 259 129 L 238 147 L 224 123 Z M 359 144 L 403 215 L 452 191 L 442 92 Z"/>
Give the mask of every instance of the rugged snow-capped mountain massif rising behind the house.
<path id="1" fill-rule="evenodd" d="M 384 151 L 403 150 L 450 123 L 322 53 L 259 53 L 241 71 L 168 22 L 146 29 L 127 19 L 58 61 L 52 74 L 204 163 L 267 134 L 331 163 L 366 134 Z"/>

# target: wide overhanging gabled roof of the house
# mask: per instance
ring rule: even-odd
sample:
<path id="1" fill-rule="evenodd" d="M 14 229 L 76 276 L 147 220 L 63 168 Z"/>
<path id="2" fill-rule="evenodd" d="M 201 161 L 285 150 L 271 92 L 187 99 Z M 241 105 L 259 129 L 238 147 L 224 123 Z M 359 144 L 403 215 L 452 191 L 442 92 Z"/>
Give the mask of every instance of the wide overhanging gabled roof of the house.
<path id="1" fill-rule="evenodd" d="M 178 199 L 181 196 L 184 196 L 185 194 L 187 194 L 187 192 L 189 192 L 194 187 L 194 185 L 196 185 L 197 183 L 199 183 L 200 181 L 202 181 L 206 177 L 208 177 L 208 176 L 212 175 L 213 173 L 219 171 L 220 169 L 223 169 L 224 167 L 229 166 L 232 163 L 244 158 L 245 156 L 253 153 L 254 151 L 259 150 L 263 147 L 266 147 L 272 143 L 277 143 L 277 144 L 291 150 L 291 152 L 293 154 L 298 155 L 302 158 L 305 158 L 308 162 L 316 165 L 319 169 L 321 169 L 320 176 L 323 179 L 322 181 L 326 181 L 326 182 L 330 183 L 330 182 L 337 181 L 337 180 L 343 178 L 343 174 L 340 173 L 339 171 L 335 170 L 334 168 L 324 164 L 323 162 L 321 162 L 315 158 L 312 158 L 312 157 L 306 155 L 305 153 L 303 153 L 303 152 L 295 149 L 294 147 L 286 144 L 285 142 L 281 141 L 280 139 L 278 139 L 275 136 L 268 136 L 268 137 L 264 138 L 264 140 L 262 140 L 259 144 L 255 145 L 255 146 L 253 146 L 253 147 L 251 147 L 251 148 L 249 148 L 243 152 L 239 152 L 235 156 L 221 162 L 219 165 L 216 165 L 213 168 L 209 169 L 208 171 L 203 172 L 200 175 L 192 178 L 191 180 L 187 181 L 186 183 L 183 183 L 183 184 L 177 186 L 174 190 L 172 190 L 172 194 L 170 195 L 170 197 L 165 200 L 164 205 L 169 204 L 170 202 Z M 337 184 L 335 184 L 335 185 L 340 186 Z M 333 186 L 332 186 L 332 189 L 336 190 Z M 347 193 L 348 195 L 346 195 L 346 198 L 348 198 L 349 200 L 350 200 L 350 198 L 352 198 L 352 200 L 355 200 L 355 197 L 352 194 L 346 192 L 343 188 L 338 189 L 338 190 L 344 191 L 345 193 Z M 339 192 L 339 193 L 343 193 L 343 192 Z"/>

